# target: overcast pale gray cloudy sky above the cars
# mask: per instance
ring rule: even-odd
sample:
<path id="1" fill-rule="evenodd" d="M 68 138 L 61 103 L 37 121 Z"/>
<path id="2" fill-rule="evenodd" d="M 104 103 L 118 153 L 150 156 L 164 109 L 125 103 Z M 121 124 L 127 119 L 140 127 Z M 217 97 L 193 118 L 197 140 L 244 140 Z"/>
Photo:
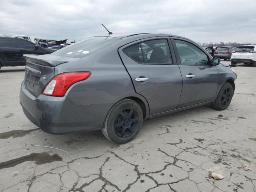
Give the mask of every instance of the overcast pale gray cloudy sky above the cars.
<path id="1" fill-rule="evenodd" d="M 256 0 L 0 0 L 0 34 L 66 39 L 160 32 L 256 43 Z"/>

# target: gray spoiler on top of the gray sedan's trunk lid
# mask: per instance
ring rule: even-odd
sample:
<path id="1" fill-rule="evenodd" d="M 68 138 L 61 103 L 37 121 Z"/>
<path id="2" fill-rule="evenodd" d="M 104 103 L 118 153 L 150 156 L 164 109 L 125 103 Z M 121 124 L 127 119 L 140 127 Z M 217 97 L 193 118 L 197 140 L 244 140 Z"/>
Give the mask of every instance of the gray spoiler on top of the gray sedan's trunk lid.
<path id="1" fill-rule="evenodd" d="M 41 55 L 26 55 L 26 54 L 23 55 L 23 57 L 26 59 L 27 62 L 31 62 L 31 63 L 39 64 L 39 65 L 44 65 L 44 66 L 50 66 L 50 67 L 55 67 L 59 64 L 68 62 L 66 60 L 47 58 L 45 55 L 42 55 L 42 56 L 44 56 L 44 58 L 40 57 L 40 56 Z"/>

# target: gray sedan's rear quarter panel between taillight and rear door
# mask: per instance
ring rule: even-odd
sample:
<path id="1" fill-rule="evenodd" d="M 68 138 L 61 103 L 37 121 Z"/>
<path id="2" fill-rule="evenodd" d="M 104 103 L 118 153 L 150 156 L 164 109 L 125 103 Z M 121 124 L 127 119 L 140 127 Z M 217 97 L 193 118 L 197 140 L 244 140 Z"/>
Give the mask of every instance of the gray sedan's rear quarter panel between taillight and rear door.
<path id="1" fill-rule="evenodd" d="M 110 104 L 112 107 L 119 100 L 134 96 L 144 102 L 148 111 L 146 100 L 134 91 L 116 47 L 104 49 L 76 62 L 60 64 L 55 68 L 55 75 L 72 71 L 92 72 L 88 79 L 72 85 L 66 92 L 66 96 L 75 104 L 98 105 L 96 110 L 102 113 L 100 105 Z"/>

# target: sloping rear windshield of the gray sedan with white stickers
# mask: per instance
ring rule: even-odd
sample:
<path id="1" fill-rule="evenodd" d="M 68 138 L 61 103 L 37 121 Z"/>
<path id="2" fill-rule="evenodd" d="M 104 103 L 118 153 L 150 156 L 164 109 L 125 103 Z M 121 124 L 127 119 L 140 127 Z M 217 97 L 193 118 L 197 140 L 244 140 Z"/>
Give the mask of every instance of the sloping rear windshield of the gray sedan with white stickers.
<path id="1" fill-rule="evenodd" d="M 52 55 L 72 58 L 83 58 L 91 55 L 99 50 L 102 50 L 118 41 L 120 38 L 113 37 L 91 37 L 83 41 L 76 42 L 72 45 L 68 45 Z"/>

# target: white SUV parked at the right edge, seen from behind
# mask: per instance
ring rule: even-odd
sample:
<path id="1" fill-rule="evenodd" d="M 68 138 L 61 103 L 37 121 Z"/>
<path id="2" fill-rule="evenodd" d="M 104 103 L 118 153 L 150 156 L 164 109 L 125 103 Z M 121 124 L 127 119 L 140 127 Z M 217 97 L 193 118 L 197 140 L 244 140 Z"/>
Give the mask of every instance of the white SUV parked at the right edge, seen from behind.
<path id="1" fill-rule="evenodd" d="M 232 52 L 231 66 L 236 66 L 238 63 L 252 64 L 256 67 L 256 45 L 237 46 Z"/>

